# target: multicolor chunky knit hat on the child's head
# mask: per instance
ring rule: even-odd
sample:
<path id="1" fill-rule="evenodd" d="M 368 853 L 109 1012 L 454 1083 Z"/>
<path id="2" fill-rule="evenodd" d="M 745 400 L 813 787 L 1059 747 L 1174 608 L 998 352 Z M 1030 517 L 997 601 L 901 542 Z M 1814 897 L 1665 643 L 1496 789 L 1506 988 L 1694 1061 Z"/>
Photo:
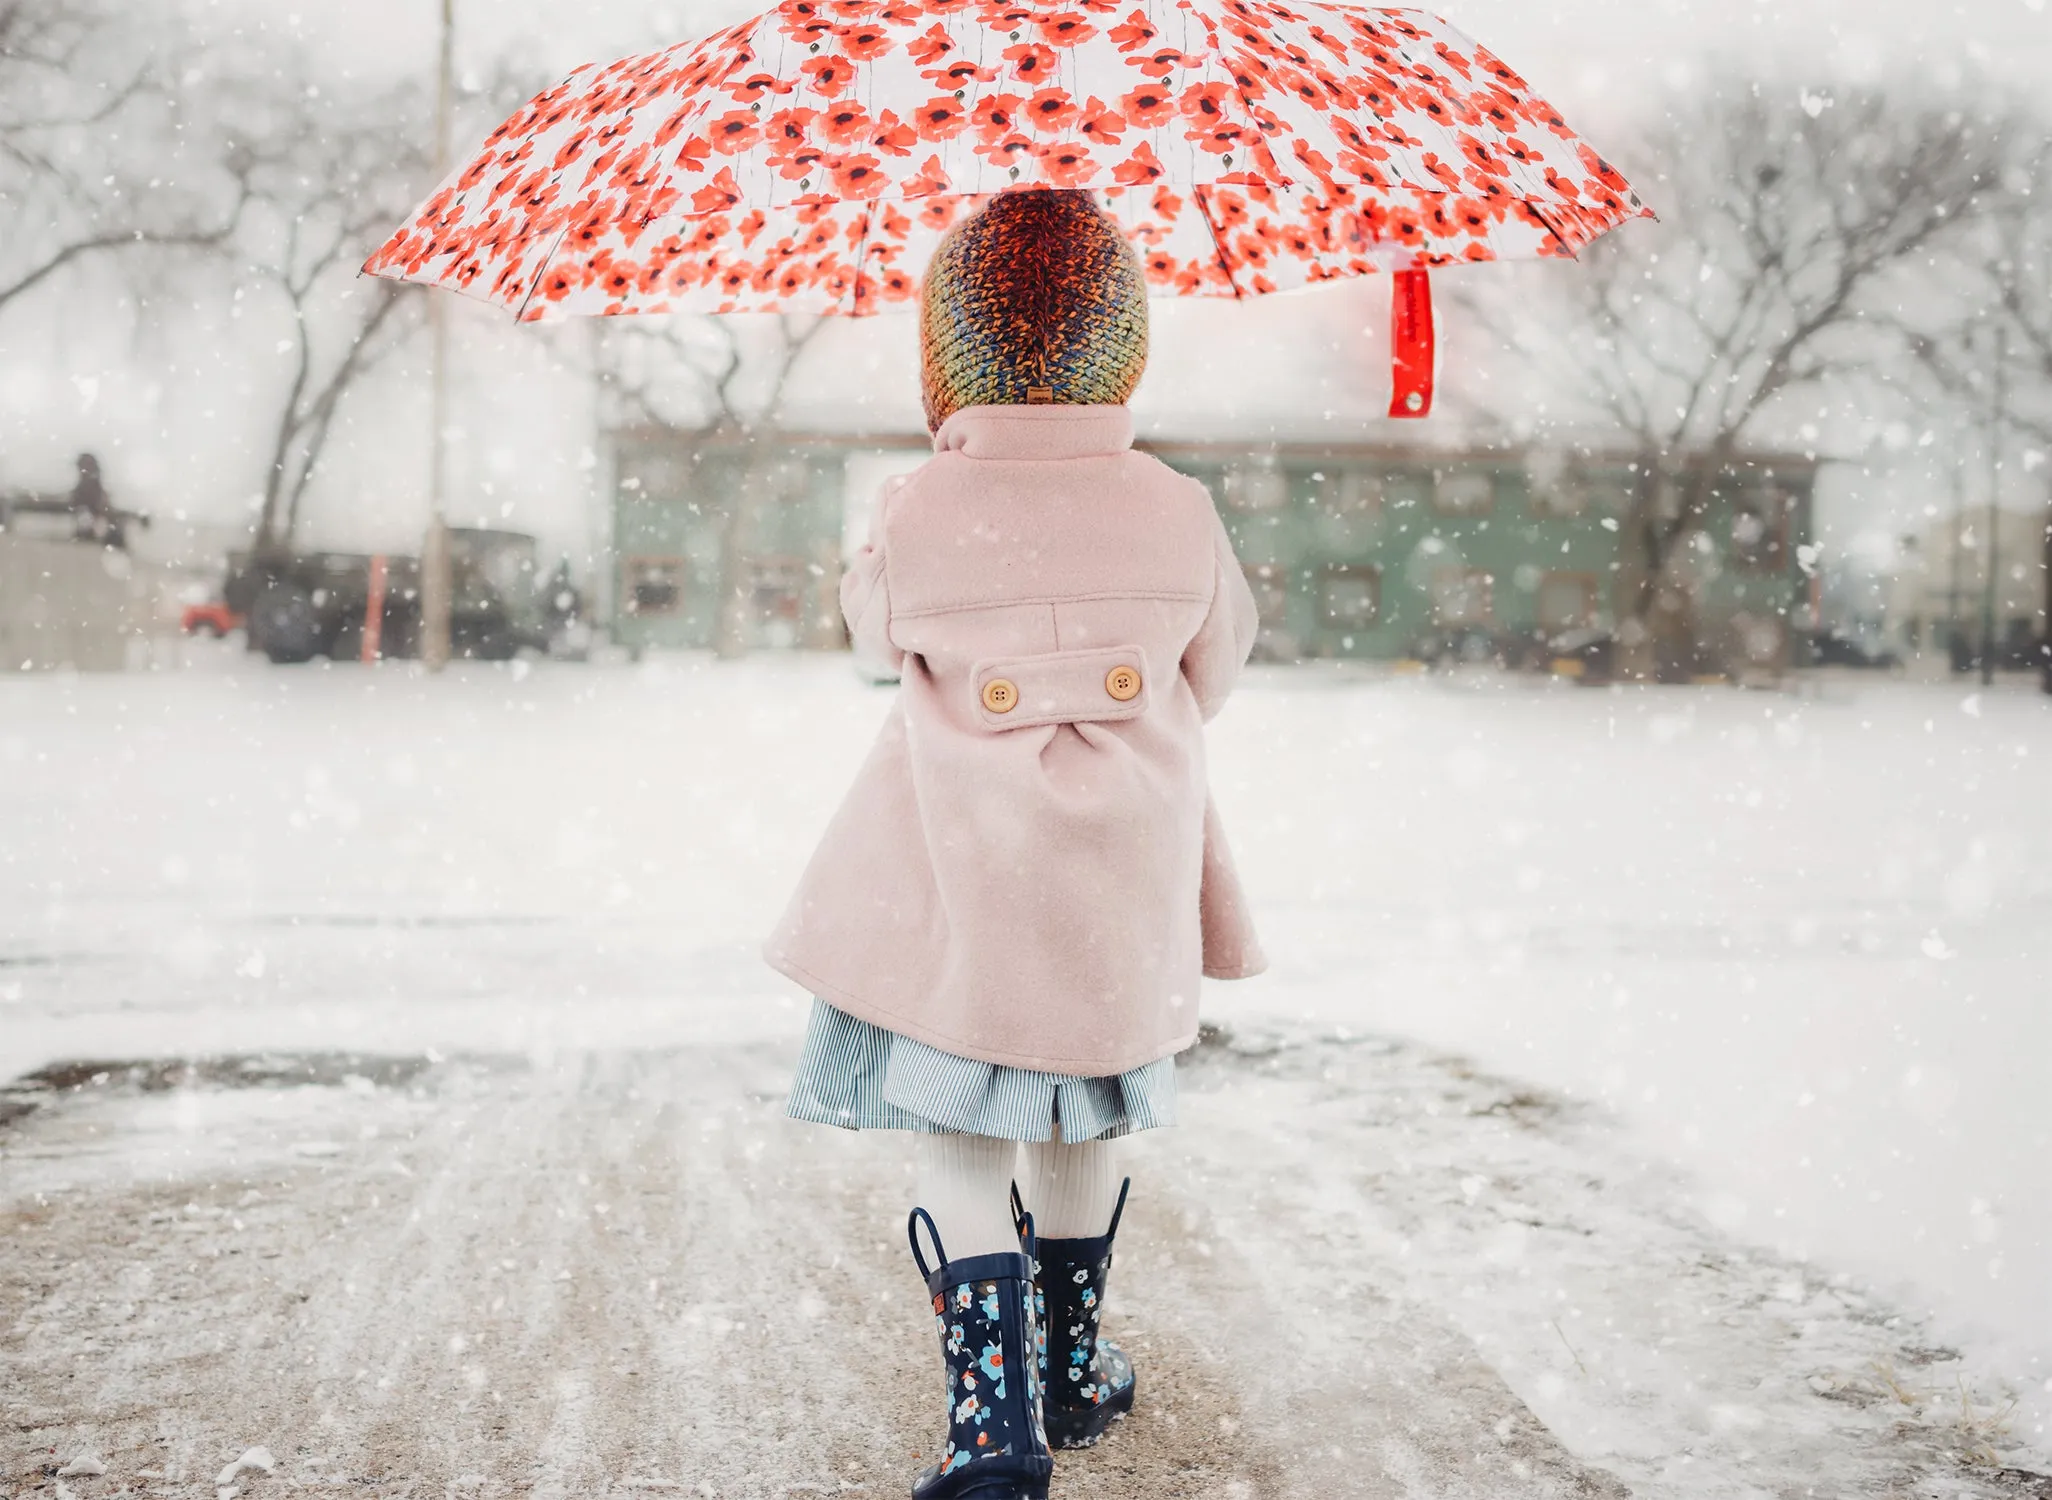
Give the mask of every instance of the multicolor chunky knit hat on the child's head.
<path id="1" fill-rule="evenodd" d="M 934 252 L 919 345 L 932 431 L 964 406 L 1116 406 L 1147 367 L 1147 279 L 1090 193 L 999 193 Z"/>

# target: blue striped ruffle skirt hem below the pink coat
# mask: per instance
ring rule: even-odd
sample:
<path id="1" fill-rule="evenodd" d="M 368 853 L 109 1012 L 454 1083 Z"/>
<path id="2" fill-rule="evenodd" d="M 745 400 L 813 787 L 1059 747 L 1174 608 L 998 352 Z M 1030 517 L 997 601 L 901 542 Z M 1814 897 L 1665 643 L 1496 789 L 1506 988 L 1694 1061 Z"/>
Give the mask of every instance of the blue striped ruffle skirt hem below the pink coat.
<path id="1" fill-rule="evenodd" d="M 977 1063 L 813 1001 L 786 1114 L 847 1131 L 1110 1141 L 1176 1122 L 1176 1059 L 1118 1077 Z"/>

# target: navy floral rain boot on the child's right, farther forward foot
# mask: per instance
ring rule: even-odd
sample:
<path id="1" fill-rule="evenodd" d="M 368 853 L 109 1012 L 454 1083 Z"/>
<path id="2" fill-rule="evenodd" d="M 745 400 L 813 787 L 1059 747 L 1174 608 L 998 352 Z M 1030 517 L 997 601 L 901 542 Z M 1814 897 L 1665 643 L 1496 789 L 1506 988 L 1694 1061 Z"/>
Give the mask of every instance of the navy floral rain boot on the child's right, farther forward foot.
<path id="1" fill-rule="evenodd" d="M 1012 1217 L 1028 1254 L 1036 1258 L 1047 1440 L 1057 1449 L 1088 1449 L 1133 1410 L 1133 1360 L 1112 1340 L 1098 1338 L 1104 1282 L 1112 1272 L 1112 1239 L 1131 1190 L 1133 1178 L 1118 1184 L 1112 1227 L 1096 1239 L 1042 1239 L 1034 1246 L 1032 1219 L 1020 1205 L 1018 1184 L 1012 1186 Z"/>

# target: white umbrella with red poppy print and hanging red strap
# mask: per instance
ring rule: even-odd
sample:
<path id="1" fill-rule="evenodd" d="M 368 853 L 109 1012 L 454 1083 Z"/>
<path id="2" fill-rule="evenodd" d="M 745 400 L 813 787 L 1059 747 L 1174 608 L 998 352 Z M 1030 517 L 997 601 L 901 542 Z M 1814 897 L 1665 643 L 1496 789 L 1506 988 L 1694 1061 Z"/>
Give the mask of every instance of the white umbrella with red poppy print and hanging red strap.
<path id="1" fill-rule="evenodd" d="M 1572 256 L 1648 213 L 1418 10 L 784 0 L 536 96 L 365 271 L 529 322 L 866 314 L 1022 187 L 1096 193 L 1161 295 L 1399 273 L 1395 415 L 1430 404 L 1428 267 Z"/>

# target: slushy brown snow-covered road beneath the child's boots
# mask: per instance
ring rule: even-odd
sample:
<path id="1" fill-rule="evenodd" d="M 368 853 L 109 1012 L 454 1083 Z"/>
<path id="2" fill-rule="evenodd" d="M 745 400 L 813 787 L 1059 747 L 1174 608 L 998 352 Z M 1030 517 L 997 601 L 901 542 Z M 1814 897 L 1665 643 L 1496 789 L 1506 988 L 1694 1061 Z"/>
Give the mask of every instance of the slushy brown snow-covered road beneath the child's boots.
<path id="1" fill-rule="evenodd" d="M 252 1445 L 281 1463 L 250 1500 L 901 1494 L 938 1381 L 907 1153 L 780 1118 L 786 1067 L 51 1075 L 0 1211 L 14 1494 L 90 1455 L 88 1500 L 205 1496 Z M 1730 1246 L 1578 1110 L 1246 1036 L 1200 1049 L 1186 1104 L 1135 1151 L 1114 1278 L 1145 1395 L 1057 1496 L 2046 1492 L 1951 1352 Z"/>

